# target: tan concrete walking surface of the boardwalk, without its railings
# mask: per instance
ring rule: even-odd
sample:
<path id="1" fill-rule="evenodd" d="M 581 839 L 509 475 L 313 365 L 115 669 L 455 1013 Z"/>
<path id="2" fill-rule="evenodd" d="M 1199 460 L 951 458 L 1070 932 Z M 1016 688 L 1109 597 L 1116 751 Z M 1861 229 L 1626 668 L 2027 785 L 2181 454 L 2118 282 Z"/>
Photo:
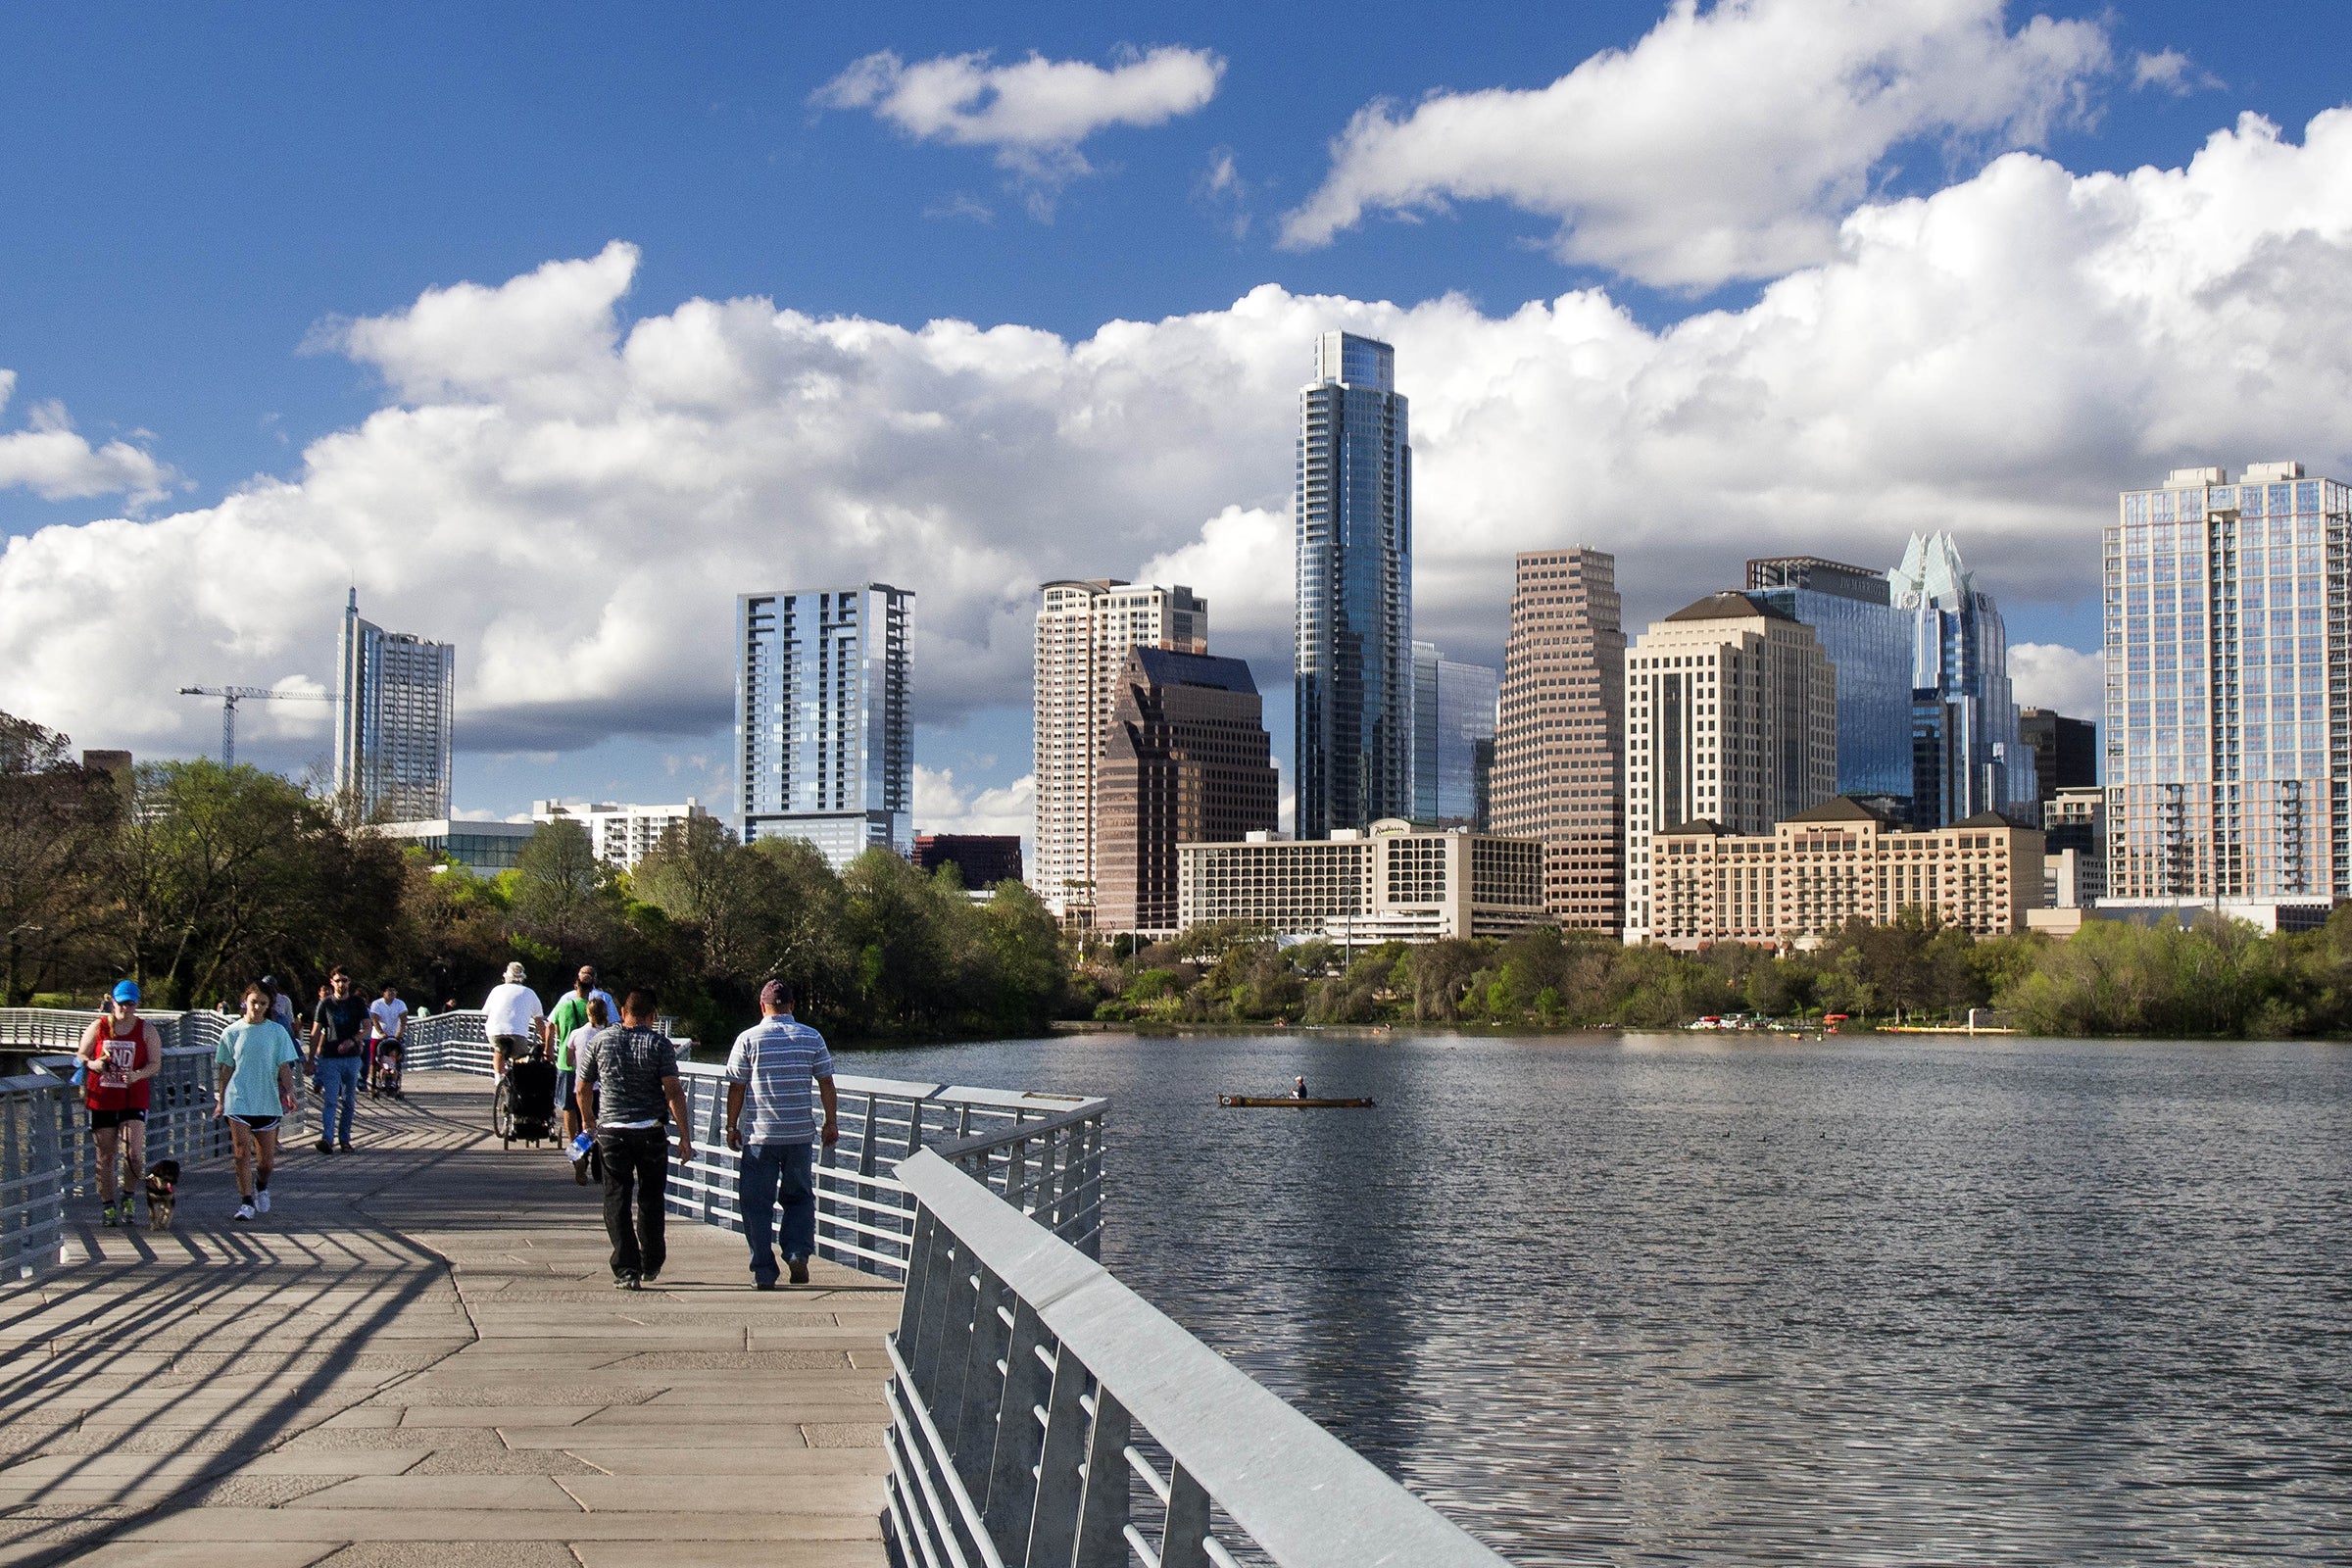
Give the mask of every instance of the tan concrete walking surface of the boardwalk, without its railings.
<path id="1" fill-rule="evenodd" d="M 487 1124 L 412 1074 L 249 1225 L 228 1161 L 169 1234 L 82 1204 L 82 1260 L 0 1291 L 0 1563 L 882 1563 L 898 1291 L 762 1295 L 673 1218 L 619 1293 L 597 1192 Z"/>

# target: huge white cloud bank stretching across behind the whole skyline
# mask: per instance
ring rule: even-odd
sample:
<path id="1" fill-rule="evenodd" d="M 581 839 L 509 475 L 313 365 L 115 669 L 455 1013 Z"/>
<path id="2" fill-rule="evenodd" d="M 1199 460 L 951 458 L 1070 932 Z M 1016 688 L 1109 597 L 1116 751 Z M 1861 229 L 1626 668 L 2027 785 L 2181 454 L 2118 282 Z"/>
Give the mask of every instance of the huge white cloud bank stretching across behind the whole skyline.
<path id="1" fill-rule="evenodd" d="M 614 247 L 343 322 L 388 400 L 299 470 L 7 541 L 0 708 L 209 750 L 219 715 L 176 686 L 322 677 L 350 583 L 376 623 L 456 642 L 473 750 L 724 748 L 734 595 L 873 578 L 917 595 L 924 724 L 1028 705 L 1047 578 L 1188 581 L 1211 646 L 1272 684 L 1329 327 L 1397 346 L 1416 630 L 1472 658 L 1498 651 L 1515 550 L 1616 550 L 1639 625 L 1750 555 L 1891 564 L 1952 529 L 2018 625 L 2098 592 L 2117 489 L 2352 458 L 2352 110 L 2300 143 L 2246 118 L 2176 169 L 2013 153 L 1658 329 L 1602 289 L 1486 313 L 1272 284 L 1084 339 L 767 299 L 630 320 L 633 268 Z"/>

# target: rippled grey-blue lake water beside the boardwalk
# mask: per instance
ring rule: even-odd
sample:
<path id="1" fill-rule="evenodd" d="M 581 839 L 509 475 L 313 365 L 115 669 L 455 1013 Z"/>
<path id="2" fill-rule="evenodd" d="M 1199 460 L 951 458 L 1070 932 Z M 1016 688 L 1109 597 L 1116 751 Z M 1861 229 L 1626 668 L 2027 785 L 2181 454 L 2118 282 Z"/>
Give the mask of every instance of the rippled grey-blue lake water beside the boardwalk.
<path id="1" fill-rule="evenodd" d="M 1103 1260 L 1517 1563 L 2352 1561 L 2352 1048 L 1077 1037 Z M 1369 1112 L 1218 1110 L 1308 1074 Z"/>

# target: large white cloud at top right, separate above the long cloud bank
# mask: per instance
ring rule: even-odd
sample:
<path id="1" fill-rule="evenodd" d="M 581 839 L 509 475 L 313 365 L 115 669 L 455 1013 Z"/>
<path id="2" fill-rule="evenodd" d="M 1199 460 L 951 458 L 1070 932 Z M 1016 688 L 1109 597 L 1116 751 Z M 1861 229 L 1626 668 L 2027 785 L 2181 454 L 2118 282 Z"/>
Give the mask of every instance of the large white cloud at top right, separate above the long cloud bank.
<path id="1" fill-rule="evenodd" d="M 2103 26 L 2009 31 L 2004 0 L 1675 0 L 1550 87 L 1367 106 L 1282 235 L 1501 200 L 1557 219 L 1564 261 L 1665 287 L 1778 277 L 1832 254 L 1900 148 L 2034 146 L 2107 66 Z"/>

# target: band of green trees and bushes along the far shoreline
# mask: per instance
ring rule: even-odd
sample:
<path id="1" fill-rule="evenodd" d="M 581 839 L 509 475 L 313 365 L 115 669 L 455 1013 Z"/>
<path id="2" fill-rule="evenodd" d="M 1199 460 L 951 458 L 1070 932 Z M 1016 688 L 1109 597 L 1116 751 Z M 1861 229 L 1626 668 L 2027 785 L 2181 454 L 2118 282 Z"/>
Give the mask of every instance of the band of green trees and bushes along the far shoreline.
<path id="1" fill-rule="evenodd" d="M 118 778 L 0 715 L 0 1004 L 94 1001 L 125 976 L 151 1006 L 216 1006 L 261 973 L 296 1001 L 329 969 L 412 1004 L 480 1004 L 508 961 L 541 994 L 581 964 L 652 985 L 696 1041 L 757 1016 L 767 978 L 844 1046 L 1044 1034 L 1056 1020 L 1672 1030 L 1708 1016 L 1809 1032 L 1999 1023 L 2044 1037 L 2352 1034 L 2352 905 L 2310 933 L 2091 922 L 1971 938 L 1905 910 L 1811 952 L 1625 947 L 1541 929 L 1510 940 L 1279 945 L 1249 926 L 1084 947 L 1007 882 L 964 893 L 887 851 L 835 872 L 809 844 L 734 844 L 710 818 L 673 827 L 633 870 L 579 823 L 541 825 L 520 865 L 475 875 L 369 835 L 341 802 L 252 766 L 158 762 Z"/>

